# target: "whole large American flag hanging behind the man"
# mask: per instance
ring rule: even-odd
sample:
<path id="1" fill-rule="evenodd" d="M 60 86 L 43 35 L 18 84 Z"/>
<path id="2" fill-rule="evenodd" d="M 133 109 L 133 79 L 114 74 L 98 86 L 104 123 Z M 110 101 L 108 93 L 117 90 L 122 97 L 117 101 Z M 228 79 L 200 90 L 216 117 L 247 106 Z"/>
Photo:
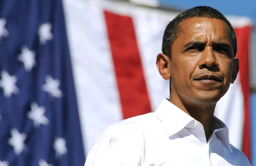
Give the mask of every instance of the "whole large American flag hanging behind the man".
<path id="1" fill-rule="evenodd" d="M 178 13 L 85 0 L 0 0 L 0 166 L 82 166 L 100 133 L 169 97 L 155 65 Z M 249 41 L 236 30 L 240 72 L 216 106 L 250 156 Z"/>

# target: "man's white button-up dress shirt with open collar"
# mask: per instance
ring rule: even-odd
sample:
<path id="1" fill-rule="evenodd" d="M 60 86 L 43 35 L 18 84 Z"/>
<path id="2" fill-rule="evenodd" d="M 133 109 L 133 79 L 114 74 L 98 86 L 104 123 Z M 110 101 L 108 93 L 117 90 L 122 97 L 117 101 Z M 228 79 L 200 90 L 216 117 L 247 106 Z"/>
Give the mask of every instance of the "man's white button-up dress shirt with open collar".
<path id="1" fill-rule="evenodd" d="M 164 98 L 155 112 L 105 129 L 84 166 L 250 166 L 221 120 L 211 129 L 207 141 L 203 125 Z"/>

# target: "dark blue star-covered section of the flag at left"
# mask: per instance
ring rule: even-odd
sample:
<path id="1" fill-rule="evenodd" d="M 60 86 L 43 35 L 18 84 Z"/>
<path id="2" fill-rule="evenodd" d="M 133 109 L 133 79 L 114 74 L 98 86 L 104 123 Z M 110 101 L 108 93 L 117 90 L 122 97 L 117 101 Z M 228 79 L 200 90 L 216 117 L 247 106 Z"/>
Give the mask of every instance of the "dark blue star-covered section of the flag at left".
<path id="1" fill-rule="evenodd" d="M 82 166 L 61 0 L 0 0 L 0 166 Z"/>

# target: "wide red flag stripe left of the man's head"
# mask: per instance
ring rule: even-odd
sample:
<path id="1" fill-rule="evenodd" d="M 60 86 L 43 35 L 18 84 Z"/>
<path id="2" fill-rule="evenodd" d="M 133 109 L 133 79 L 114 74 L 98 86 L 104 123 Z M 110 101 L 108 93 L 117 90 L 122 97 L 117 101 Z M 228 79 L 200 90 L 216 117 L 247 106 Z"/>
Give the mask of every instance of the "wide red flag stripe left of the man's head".
<path id="1" fill-rule="evenodd" d="M 131 17 L 105 11 L 124 119 L 151 112 Z"/>

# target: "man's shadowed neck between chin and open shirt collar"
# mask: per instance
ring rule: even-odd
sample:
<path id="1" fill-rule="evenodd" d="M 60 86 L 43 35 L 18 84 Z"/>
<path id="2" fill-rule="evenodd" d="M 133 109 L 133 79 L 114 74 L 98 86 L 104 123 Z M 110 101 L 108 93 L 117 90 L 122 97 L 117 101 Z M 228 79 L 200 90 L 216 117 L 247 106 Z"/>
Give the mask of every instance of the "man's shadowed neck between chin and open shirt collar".
<path id="1" fill-rule="evenodd" d="M 216 103 L 208 105 L 189 103 L 181 101 L 179 98 L 172 96 L 172 93 L 170 95 L 169 101 L 173 103 L 175 106 L 177 106 L 179 109 L 181 109 L 183 112 L 189 114 L 189 116 L 193 117 L 195 120 L 202 123 L 202 125 L 204 126 L 206 139 L 209 139 L 209 137 L 212 135 L 210 126 Z"/>

